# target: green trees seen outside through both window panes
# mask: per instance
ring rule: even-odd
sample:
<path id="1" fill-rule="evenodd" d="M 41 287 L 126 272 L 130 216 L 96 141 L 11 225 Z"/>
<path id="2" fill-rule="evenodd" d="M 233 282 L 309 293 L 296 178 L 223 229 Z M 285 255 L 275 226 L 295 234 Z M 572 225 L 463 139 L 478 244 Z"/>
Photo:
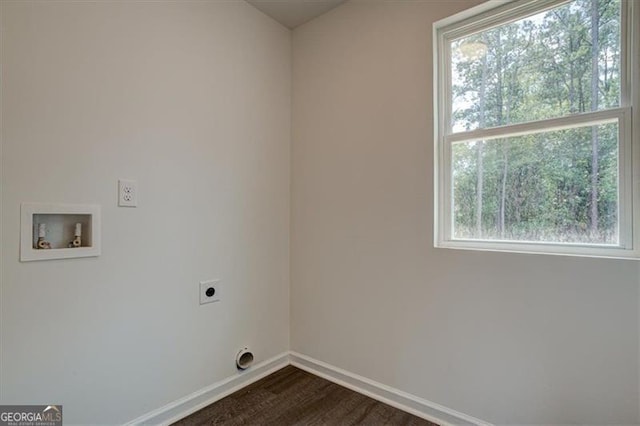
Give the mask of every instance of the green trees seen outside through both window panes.
<path id="1" fill-rule="evenodd" d="M 617 106 L 619 35 L 619 0 L 575 0 L 454 41 L 453 130 Z M 615 242 L 615 123 L 452 152 L 456 237 Z"/>

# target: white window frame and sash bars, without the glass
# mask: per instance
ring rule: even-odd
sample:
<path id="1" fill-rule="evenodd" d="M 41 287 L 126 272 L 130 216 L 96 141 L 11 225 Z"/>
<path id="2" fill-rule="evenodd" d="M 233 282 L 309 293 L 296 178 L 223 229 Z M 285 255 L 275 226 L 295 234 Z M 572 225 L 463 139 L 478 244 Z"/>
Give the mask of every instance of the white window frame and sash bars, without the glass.
<path id="1" fill-rule="evenodd" d="M 450 41 L 557 7 L 571 0 L 491 0 L 433 24 L 435 247 L 622 259 L 640 258 L 640 1 L 621 0 L 620 106 L 535 122 L 453 133 Z M 635 107 L 635 108 L 634 108 Z M 453 238 L 451 146 L 590 124 L 619 123 L 618 245 Z M 540 129 L 542 127 L 542 129 Z M 635 212 L 635 214 L 634 214 Z"/>

